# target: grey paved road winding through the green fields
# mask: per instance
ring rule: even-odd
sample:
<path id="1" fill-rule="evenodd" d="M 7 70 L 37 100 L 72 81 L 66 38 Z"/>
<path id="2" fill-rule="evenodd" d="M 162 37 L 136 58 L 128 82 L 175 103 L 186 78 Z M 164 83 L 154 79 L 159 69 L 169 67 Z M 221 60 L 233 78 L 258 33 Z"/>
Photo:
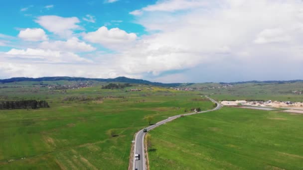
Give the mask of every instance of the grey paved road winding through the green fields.
<path id="1" fill-rule="evenodd" d="M 198 114 L 198 113 L 205 113 L 205 112 L 209 112 L 209 111 L 214 111 L 214 110 L 218 110 L 222 107 L 222 105 L 220 103 L 218 103 L 217 101 L 215 101 L 214 99 L 206 96 L 209 100 L 211 100 L 212 102 L 214 103 L 217 103 L 217 107 L 214 108 L 214 109 L 211 109 L 211 110 L 206 110 L 206 111 L 200 111 L 200 112 L 193 112 L 193 113 L 186 113 L 186 114 L 179 114 L 179 115 L 175 115 L 175 116 L 172 116 L 172 117 L 169 117 L 165 120 L 162 120 L 162 121 L 159 121 L 157 122 L 156 124 L 154 125 L 151 125 L 149 127 L 147 127 L 146 129 L 148 131 L 152 130 L 153 128 L 155 127 L 158 127 L 166 122 L 169 122 L 169 121 L 172 121 L 176 118 L 179 118 L 181 115 L 184 115 L 184 116 L 188 116 L 188 115 L 192 115 L 192 114 Z M 144 137 L 145 137 L 145 134 L 143 132 L 143 129 L 141 129 L 137 134 L 136 134 L 136 137 L 135 137 L 135 144 L 134 144 L 134 154 L 133 154 L 133 170 L 146 170 L 146 160 L 145 160 L 145 152 L 144 152 Z M 140 160 L 135 160 L 135 154 L 140 154 Z"/>

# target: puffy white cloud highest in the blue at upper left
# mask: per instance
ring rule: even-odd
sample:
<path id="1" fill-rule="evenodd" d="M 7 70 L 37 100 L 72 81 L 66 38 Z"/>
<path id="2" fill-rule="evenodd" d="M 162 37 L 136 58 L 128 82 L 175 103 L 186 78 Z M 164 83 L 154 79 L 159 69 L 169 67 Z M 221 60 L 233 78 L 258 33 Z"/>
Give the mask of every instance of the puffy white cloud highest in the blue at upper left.
<path id="1" fill-rule="evenodd" d="M 82 28 L 77 25 L 80 20 L 77 17 L 61 17 L 56 15 L 39 16 L 35 20 L 42 27 L 50 32 L 61 36 L 71 36 L 73 30 L 81 30 Z"/>

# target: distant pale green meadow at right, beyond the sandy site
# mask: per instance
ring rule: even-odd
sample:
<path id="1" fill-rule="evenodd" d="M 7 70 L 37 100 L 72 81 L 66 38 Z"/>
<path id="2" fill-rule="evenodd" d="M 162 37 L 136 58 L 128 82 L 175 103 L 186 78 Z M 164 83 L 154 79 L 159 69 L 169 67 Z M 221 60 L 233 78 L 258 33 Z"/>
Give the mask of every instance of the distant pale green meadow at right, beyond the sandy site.
<path id="1" fill-rule="evenodd" d="M 218 87 L 219 84 L 193 84 L 191 87 Z M 221 85 L 222 86 L 222 85 Z M 218 101 L 222 100 L 278 100 L 303 102 L 303 94 L 293 91 L 303 91 L 303 83 L 245 83 L 235 84 L 227 88 L 203 89 L 201 93 L 212 95 Z"/>

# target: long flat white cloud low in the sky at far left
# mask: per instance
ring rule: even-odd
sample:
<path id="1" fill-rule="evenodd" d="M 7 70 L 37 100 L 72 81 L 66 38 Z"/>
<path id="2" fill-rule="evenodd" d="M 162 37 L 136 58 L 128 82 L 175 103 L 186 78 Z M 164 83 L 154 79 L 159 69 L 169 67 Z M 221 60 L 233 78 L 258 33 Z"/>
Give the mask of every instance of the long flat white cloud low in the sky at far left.
<path id="1" fill-rule="evenodd" d="M 5 53 L 6 57 L 30 59 L 32 63 L 78 63 L 91 62 L 72 52 L 52 51 L 27 48 L 26 50 L 11 49 Z M 4 56 L 5 57 L 5 56 Z"/>

